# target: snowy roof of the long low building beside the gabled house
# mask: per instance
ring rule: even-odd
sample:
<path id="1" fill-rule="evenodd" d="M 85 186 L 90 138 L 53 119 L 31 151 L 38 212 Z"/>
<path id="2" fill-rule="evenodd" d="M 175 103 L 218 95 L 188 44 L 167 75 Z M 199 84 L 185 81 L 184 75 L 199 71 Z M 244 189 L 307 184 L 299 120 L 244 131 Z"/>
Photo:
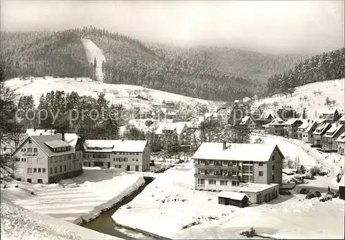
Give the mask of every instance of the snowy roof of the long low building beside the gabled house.
<path id="1" fill-rule="evenodd" d="M 143 152 L 146 144 L 146 140 L 86 140 L 84 148 L 87 152 Z"/>

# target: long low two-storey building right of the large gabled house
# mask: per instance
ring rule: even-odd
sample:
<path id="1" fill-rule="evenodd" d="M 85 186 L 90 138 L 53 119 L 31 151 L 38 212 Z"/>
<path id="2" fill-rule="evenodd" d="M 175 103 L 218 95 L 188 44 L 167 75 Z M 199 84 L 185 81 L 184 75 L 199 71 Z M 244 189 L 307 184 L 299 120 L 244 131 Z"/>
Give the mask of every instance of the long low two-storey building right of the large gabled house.
<path id="1" fill-rule="evenodd" d="M 84 165 L 121 168 L 127 171 L 150 170 L 150 146 L 144 140 L 86 140 Z"/>

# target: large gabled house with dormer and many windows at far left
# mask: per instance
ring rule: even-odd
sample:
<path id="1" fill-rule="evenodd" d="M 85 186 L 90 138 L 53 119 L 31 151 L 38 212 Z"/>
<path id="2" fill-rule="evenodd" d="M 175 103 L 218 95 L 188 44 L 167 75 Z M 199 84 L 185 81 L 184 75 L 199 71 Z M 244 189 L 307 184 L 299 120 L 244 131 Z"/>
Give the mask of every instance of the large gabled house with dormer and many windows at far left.
<path id="1" fill-rule="evenodd" d="M 83 172 L 83 144 L 77 134 L 29 136 L 13 152 L 14 178 L 29 183 L 55 183 Z"/>

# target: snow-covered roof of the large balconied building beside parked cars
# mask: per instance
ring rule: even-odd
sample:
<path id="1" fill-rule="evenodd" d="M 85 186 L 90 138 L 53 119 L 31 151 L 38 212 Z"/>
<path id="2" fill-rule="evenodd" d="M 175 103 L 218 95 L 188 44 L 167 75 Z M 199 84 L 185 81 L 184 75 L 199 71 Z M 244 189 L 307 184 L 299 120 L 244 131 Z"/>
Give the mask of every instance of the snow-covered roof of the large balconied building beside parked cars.
<path id="1" fill-rule="evenodd" d="M 268 143 L 227 143 L 226 150 L 223 150 L 223 143 L 204 142 L 193 155 L 193 159 L 268 161 L 275 148 L 280 152 L 275 144 Z M 282 158 L 284 159 L 283 154 Z"/>

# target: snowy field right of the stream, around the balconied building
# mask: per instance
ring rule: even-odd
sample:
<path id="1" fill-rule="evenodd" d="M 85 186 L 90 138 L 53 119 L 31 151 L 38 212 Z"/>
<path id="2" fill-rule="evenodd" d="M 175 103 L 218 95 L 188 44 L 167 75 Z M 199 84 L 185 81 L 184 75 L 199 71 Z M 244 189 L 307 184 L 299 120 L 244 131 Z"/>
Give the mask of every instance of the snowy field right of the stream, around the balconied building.
<path id="1" fill-rule="evenodd" d="M 249 227 L 259 234 L 280 238 L 342 238 L 344 235 L 341 199 L 322 203 L 295 194 L 248 208 L 224 206 L 217 203 L 217 193 L 193 190 L 194 172 L 193 163 L 186 163 L 159 174 L 128 203 L 129 208 L 122 206 L 112 219 L 172 239 L 242 238 L 239 232 Z M 193 222 L 198 224 L 188 226 Z M 188 227 L 181 229 L 183 226 Z"/>

